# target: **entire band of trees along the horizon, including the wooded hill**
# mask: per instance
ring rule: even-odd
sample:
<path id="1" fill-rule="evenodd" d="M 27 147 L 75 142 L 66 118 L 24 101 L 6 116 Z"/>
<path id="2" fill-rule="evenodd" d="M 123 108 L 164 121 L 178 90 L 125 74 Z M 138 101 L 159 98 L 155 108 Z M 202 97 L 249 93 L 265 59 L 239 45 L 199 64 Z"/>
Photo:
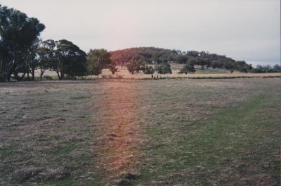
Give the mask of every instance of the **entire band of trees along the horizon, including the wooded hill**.
<path id="1" fill-rule="evenodd" d="M 0 81 L 42 79 L 46 70 L 54 71 L 59 80 L 76 76 L 99 75 L 107 68 L 112 74 L 126 66 L 131 74 L 172 73 L 170 63 L 184 64 L 180 73 L 194 73 L 195 66 L 224 68 L 233 72 L 280 72 L 280 66 L 253 68 L 245 61 L 206 51 L 179 51 L 139 47 L 118 51 L 91 49 L 88 54 L 66 39 L 42 41 L 45 25 L 14 8 L 0 5 Z M 155 66 L 155 68 L 152 67 Z"/>

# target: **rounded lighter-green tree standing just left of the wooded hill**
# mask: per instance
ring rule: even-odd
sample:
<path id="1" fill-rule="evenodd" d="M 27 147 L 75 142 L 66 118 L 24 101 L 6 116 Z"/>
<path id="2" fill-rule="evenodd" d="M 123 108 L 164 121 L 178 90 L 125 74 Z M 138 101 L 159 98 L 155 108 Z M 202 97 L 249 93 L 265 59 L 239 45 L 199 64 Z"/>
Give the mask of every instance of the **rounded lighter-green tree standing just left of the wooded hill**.
<path id="1" fill-rule="evenodd" d="M 113 72 L 115 73 L 117 69 L 114 67 L 114 63 L 112 63 L 110 57 L 111 54 L 105 49 L 91 49 L 86 57 L 86 68 L 88 74 L 100 75 L 102 70 L 104 68 L 107 68 L 108 66 L 110 66 L 110 70 L 113 70 Z"/>

